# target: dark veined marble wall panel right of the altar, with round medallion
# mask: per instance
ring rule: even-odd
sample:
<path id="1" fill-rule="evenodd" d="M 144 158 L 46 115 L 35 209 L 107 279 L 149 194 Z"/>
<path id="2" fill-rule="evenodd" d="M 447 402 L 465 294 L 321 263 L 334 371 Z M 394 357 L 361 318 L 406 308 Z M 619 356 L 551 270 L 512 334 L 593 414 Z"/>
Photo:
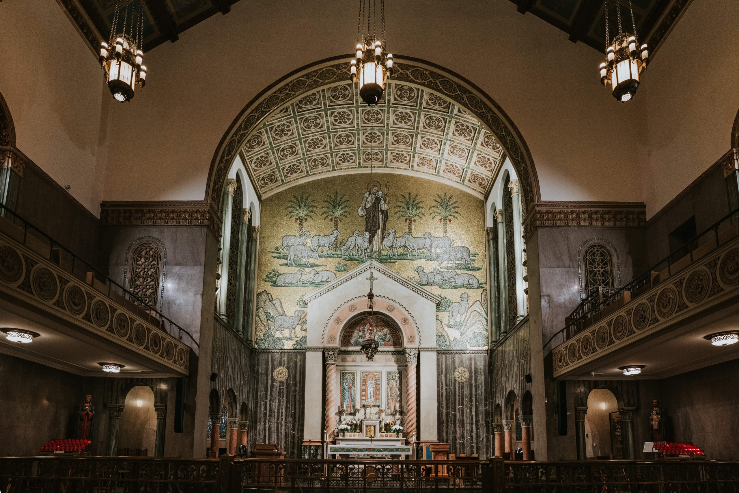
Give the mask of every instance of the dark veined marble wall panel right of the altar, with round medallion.
<path id="1" fill-rule="evenodd" d="M 438 440 L 449 443 L 452 454 L 493 455 L 490 375 L 486 352 L 437 352 Z M 454 371 L 465 368 L 460 382 Z"/>

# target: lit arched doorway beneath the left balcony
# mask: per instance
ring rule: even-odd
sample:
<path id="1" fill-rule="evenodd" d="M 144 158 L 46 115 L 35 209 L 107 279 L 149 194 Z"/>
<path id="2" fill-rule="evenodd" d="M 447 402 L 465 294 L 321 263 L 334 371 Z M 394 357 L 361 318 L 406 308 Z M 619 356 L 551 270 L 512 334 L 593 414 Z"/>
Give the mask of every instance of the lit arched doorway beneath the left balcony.
<path id="1" fill-rule="evenodd" d="M 157 412 L 149 386 L 134 386 L 126 395 L 126 412 L 120 417 L 118 455 L 154 455 L 157 443 Z"/>

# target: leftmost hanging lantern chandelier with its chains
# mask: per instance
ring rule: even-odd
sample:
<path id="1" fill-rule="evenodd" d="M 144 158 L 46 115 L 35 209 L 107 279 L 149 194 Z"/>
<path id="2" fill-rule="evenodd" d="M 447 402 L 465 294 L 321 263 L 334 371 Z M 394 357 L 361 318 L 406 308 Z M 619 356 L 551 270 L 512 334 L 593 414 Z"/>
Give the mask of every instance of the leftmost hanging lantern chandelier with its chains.
<path id="1" fill-rule="evenodd" d="M 136 84 L 142 88 L 146 85 L 146 67 L 141 64 L 143 6 L 140 0 L 126 1 L 128 3 L 123 8 L 120 7 L 121 0 L 115 4 L 109 42 L 103 41 L 100 47 L 100 63 L 105 69 L 106 84 L 113 97 L 122 103 L 134 97 Z"/>

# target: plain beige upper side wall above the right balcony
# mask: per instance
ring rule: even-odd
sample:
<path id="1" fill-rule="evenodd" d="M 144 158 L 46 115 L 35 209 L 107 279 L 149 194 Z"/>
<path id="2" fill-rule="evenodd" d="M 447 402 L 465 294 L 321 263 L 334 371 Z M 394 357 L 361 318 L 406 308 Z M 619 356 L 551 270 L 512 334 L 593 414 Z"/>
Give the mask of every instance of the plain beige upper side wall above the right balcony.
<path id="1" fill-rule="evenodd" d="M 729 150 L 739 108 L 735 0 L 693 0 L 647 68 L 641 104 L 647 218 Z"/>

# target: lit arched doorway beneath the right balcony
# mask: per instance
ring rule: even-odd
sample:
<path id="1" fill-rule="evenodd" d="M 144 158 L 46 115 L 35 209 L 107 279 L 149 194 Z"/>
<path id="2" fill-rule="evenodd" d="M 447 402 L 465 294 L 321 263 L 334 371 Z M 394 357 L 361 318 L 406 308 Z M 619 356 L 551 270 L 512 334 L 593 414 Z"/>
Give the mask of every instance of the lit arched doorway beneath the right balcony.
<path id="1" fill-rule="evenodd" d="M 608 389 L 593 389 L 588 394 L 585 415 L 585 454 L 593 459 L 620 459 L 621 418 L 618 401 Z"/>

